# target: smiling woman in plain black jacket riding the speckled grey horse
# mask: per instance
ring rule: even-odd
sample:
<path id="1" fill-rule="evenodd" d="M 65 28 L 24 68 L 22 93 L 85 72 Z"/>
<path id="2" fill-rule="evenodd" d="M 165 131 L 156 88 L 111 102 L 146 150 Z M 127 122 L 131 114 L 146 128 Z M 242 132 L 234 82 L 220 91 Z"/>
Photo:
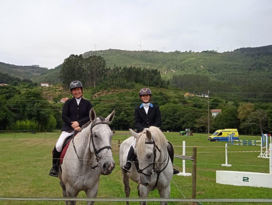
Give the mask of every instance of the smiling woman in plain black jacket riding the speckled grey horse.
<path id="1" fill-rule="evenodd" d="M 90 101 L 85 100 L 83 96 L 83 86 L 80 81 L 74 80 L 70 83 L 72 99 L 68 99 L 62 108 L 62 120 L 64 124 L 61 129 L 61 135 L 53 150 L 53 167 L 49 175 L 58 176 L 58 160 L 62 151 L 62 146 L 67 137 L 73 135 L 81 129 L 81 126 L 89 122 L 89 113 L 92 108 Z"/>

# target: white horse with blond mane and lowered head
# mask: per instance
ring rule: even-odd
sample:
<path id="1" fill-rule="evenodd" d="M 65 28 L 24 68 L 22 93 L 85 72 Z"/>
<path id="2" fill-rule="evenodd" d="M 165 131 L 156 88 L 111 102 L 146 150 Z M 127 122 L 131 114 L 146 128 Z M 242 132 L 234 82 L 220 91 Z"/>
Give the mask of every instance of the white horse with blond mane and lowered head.
<path id="1" fill-rule="evenodd" d="M 122 142 L 119 149 L 119 160 L 121 169 L 127 160 L 126 153 L 136 138 L 134 153 L 139 161 L 139 170 L 135 163 L 132 164 L 131 172 L 125 173 L 122 169 L 123 183 L 125 185 L 126 197 L 129 197 L 129 178 L 138 183 L 139 197 L 147 197 L 149 192 L 157 188 L 161 198 L 169 198 L 170 182 L 173 176 L 173 167 L 167 152 L 167 140 L 159 128 L 151 126 L 141 133 L 136 133 L 132 129 L 130 137 Z M 129 202 L 127 201 L 127 205 Z M 145 205 L 146 202 L 140 202 Z M 160 202 L 167 205 L 168 202 Z"/>

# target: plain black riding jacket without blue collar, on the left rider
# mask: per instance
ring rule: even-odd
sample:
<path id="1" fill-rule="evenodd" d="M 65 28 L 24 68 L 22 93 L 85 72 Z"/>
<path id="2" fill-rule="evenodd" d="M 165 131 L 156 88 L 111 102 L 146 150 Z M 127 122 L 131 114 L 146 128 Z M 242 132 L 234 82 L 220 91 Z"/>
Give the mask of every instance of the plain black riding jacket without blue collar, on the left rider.
<path id="1" fill-rule="evenodd" d="M 90 120 L 90 110 L 92 108 L 91 102 L 81 98 L 79 105 L 77 105 L 76 98 L 68 99 L 62 108 L 62 120 L 64 124 L 61 131 L 71 131 L 73 121 L 77 121 L 81 127 Z"/>

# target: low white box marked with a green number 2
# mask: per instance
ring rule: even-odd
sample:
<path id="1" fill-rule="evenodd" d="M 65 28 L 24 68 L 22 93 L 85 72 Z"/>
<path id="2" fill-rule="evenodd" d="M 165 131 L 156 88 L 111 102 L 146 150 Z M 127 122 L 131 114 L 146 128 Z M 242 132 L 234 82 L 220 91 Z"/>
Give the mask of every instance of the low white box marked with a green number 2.
<path id="1" fill-rule="evenodd" d="M 272 188 L 272 174 L 217 170 L 216 183 Z"/>

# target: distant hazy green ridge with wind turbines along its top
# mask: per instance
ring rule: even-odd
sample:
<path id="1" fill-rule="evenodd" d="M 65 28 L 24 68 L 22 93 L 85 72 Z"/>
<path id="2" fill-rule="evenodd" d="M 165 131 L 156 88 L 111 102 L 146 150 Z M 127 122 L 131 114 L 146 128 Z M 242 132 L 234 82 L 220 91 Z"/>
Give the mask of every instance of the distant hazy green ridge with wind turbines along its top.
<path id="1" fill-rule="evenodd" d="M 169 80 L 170 85 L 189 92 L 204 92 L 208 89 L 216 92 L 269 92 L 272 89 L 269 83 L 272 79 L 271 50 L 272 45 L 239 48 L 224 53 L 214 50 L 196 53 L 109 49 L 89 51 L 82 57 L 101 56 L 107 68 L 157 69 L 166 83 Z M 59 83 L 61 66 L 45 70 L 31 77 L 31 80 L 37 83 Z"/>

